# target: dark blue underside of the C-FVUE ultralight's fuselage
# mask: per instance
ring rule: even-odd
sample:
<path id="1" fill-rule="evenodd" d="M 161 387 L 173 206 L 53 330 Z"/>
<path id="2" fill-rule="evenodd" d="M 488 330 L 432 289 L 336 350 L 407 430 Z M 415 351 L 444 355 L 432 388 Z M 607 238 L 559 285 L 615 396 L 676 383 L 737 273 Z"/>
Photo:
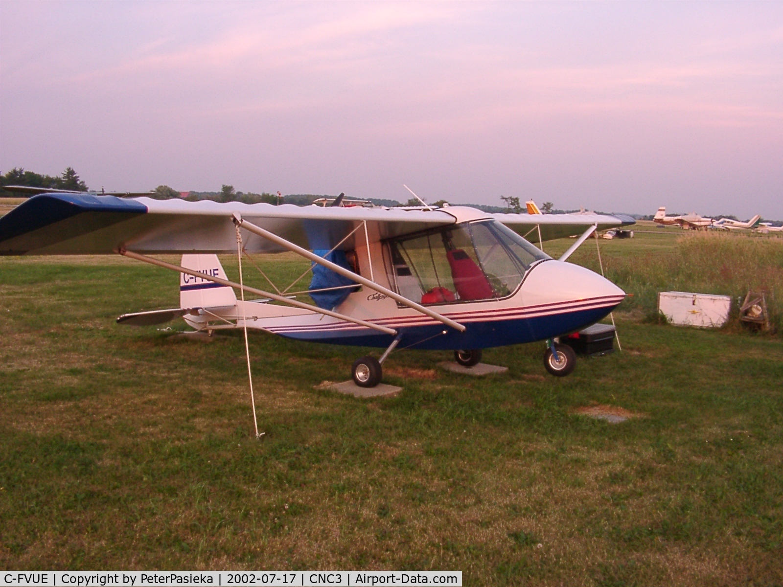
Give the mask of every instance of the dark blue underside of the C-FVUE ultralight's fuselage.
<path id="1" fill-rule="evenodd" d="M 417 348 L 430 351 L 456 351 L 472 348 L 504 347 L 509 344 L 529 343 L 535 340 L 561 336 L 590 326 L 602 319 L 614 308 L 595 308 L 578 312 L 538 316 L 493 322 L 468 322 L 466 330 L 458 332 L 443 324 L 431 326 L 401 326 L 398 330 L 402 338 L 398 348 Z M 443 332 L 446 334 L 443 334 Z M 389 334 L 376 330 L 361 334 L 355 330 L 344 333 L 331 331 L 289 332 L 280 336 L 294 340 L 308 340 L 325 344 L 345 344 L 355 347 L 385 348 L 394 340 Z"/>

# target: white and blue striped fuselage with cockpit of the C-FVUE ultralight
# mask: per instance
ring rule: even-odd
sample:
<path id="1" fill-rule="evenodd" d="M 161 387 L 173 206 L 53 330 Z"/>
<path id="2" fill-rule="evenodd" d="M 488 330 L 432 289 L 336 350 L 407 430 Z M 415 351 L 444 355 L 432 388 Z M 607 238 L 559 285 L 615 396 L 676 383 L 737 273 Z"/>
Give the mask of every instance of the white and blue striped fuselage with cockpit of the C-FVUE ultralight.
<path id="1" fill-rule="evenodd" d="M 458 350 L 570 333 L 602 319 L 625 297 L 608 279 L 548 257 L 478 211 L 464 213 L 458 220 L 462 221 L 445 229 L 390 241 L 370 236 L 355 248 L 355 269 L 459 322 L 464 332 L 367 286 L 328 309 L 396 330 L 398 348 Z M 236 326 L 247 324 L 251 329 L 327 344 L 383 348 L 395 339 L 332 316 L 277 304 L 238 301 L 211 313 L 186 316 L 186 320 L 204 329 L 217 314 L 236 321 Z"/>

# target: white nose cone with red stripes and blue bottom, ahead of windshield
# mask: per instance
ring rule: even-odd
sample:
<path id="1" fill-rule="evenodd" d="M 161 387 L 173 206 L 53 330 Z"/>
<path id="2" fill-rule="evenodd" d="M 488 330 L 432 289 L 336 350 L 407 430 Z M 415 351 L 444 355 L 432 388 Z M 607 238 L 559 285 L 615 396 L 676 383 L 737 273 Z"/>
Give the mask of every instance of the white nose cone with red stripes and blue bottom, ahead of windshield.
<path id="1" fill-rule="evenodd" d="M 535 317 L 538 338 L 579 330 L 602 319 L 626 297 L 608 279 L 573 263 L 543 261 L 521 290 L 522 304 Z"/>

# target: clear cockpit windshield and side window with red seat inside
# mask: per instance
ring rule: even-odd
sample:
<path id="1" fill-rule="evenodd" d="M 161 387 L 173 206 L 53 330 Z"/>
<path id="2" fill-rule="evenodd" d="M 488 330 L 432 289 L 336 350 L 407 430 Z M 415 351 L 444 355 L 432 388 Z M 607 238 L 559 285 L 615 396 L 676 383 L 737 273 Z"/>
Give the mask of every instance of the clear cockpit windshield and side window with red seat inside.
<path id="1" fill-rule="evenodd" d="M 550 258 L 494 220 L 391 240 L 388 252 L 391 283 L 421 304 L 506 297 L 534 262 Z"/>

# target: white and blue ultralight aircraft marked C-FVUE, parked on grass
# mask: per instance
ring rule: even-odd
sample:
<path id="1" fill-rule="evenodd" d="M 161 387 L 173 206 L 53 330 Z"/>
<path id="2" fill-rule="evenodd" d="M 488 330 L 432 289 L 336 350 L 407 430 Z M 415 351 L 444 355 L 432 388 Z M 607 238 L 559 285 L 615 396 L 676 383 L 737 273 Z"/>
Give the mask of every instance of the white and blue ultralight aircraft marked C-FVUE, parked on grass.
<path id="1" fill-rule="evenodd" d="M 457 362 L 473 366 L 483 348 L 546 340 L 547 370 L 565 376 L 576 356 L 557 337 L 597 322 L 625 297 L 601 275 L 565 261 L 595 230 L 633 218 L 340 204 L 340 198 L 329 207 L 298 207 L 41 193 L 0 218 L 0 254 L 121 254 L 179 272 L 179 308 L 126 314 L 121 324 L 181 316 L 210 334 L 259 329 L 384 348 L 379 358 L 353 364 L 361 387 L 381 381 L 381 365 L 398 347 L 453 350 Z M 548 239 L 580 233 L 557 260 L 542 250 Z M 525 239 L 530 234 L 539 247 Z M 312 261 L 309 290 L 244 285 L 244 255 L 283 251 Z M 153 254 L 182 254 L 181 265 Z M 237 254 L 240 283 L 229 281 L 218 254 Z M 246 293 L 259 297 L 245 300 Z"/>

